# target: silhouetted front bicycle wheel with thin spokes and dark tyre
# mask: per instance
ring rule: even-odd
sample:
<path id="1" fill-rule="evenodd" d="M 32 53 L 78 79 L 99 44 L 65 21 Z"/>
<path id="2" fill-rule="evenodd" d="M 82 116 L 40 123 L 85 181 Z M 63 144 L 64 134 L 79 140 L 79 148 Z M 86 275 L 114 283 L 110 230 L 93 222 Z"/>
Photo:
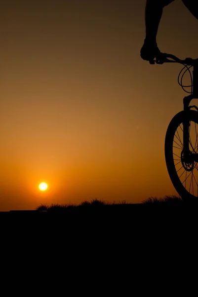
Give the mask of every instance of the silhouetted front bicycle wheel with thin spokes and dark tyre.
<path id="1" fill-rule="evenodd" d="M 186 115 L 185 115 L 186 116 Z M 181 198 L 192 200 L 198 198 L 198 163 L 191 158 L 184 159 L 183 122 L 184 111 L 177 113 L 171 120 L 165 137 L 165 161 L 168 174 L 175 190 Z M 189 150 L 198 153 L 198 112 L 189 110 Z"/>

